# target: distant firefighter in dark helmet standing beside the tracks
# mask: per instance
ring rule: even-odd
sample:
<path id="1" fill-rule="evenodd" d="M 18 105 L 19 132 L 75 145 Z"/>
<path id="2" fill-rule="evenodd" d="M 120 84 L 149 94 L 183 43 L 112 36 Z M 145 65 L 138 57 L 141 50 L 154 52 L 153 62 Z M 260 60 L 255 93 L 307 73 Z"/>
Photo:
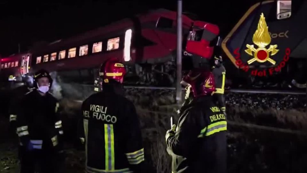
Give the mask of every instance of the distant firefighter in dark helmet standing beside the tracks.
<path id="1" fill-rule="evenodd" d="M 212 58 L 212 60 L 212 73 L 214 75 L 216 85 L 216 92 L 213 93 L 213 97 L 226 115 L 226 106 L 224 98 L 226 69 L 222 64 L 222 56 L 214 55 L 214 58 Z"/>

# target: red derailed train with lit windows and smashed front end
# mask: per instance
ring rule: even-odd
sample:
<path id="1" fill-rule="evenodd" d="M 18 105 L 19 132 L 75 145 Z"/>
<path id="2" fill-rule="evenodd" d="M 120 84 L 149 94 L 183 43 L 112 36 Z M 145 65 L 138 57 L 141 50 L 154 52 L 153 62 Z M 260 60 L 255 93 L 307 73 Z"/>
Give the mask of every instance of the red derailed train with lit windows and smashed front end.
<path id="1" fill-rule="evenodd" d="M 21 81 L 37 69 L 57 72 L 61 82 L 93 84 L 107 58 L 126 64 L 128 84 L 173 85 L 176 74 L 177 13 L 154 10 L 76 37 L 39 45 L 1 59 L 1 81 Z M 210 58 L 216 25 L 182 16 L 185 55 Z M 190 34 L 189 34 L 190 33 Z M 193 37 L 185 41 L 188 37 Z"/>

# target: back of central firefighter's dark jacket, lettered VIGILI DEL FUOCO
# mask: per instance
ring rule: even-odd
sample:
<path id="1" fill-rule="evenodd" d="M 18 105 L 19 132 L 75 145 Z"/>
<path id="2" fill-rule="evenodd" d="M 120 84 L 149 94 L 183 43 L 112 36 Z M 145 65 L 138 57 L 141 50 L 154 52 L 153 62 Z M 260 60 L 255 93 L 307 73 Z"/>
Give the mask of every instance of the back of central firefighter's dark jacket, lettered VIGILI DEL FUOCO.
<path id="1" fill-rule="evenodd" d="M 86 169 L 92 171 L 129 171 L 125 155 L 132 102 L 108 89 L 90 96 L 82 105 L 84 118 Z"/>

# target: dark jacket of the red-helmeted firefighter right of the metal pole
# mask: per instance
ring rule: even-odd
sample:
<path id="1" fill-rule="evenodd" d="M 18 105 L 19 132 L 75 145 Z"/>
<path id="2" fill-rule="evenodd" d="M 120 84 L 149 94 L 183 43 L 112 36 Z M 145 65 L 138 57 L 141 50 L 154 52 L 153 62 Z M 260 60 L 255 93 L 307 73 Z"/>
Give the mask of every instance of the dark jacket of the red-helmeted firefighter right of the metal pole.
<path id="1" fill-rule="evenodd" d="M 166 141 L 173 173 L 225 173 L 226 130 L 226 118 L 210 96 L 192 100 Z"/>

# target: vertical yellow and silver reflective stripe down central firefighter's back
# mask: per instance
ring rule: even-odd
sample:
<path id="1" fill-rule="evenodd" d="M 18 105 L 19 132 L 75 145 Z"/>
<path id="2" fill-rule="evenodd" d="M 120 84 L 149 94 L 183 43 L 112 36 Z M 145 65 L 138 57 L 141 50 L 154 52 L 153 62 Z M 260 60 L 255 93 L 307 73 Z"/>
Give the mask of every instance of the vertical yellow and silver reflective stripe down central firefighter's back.
<path id="1" fill-rule="evenodd" d="M 104 124 L 106 170 L 115 170 L 113 124 Z"/>

